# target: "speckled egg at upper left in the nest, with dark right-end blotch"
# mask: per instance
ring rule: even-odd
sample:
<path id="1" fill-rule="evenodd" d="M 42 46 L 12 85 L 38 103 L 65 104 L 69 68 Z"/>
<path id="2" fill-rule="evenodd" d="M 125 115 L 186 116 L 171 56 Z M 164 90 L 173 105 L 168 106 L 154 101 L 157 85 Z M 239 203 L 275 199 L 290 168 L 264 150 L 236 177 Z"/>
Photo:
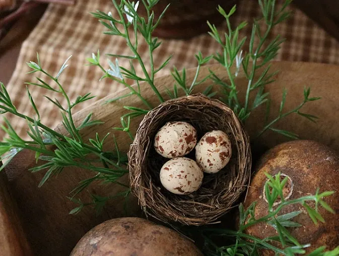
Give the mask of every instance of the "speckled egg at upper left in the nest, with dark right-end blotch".
<path id="1" fill-rule="evenodd" d="M 196 145 L 194 127 L 187 122 L 167 122 L 155 136 L 155 150 L 166 158 L 188 154 Z"/>

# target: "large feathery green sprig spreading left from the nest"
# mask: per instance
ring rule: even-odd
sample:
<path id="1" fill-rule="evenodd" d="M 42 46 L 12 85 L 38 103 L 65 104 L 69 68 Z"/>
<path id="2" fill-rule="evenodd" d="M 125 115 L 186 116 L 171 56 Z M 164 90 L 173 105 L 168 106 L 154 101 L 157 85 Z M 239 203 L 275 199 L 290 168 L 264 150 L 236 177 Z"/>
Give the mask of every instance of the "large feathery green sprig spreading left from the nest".
<path id="1" fill-rule="evenodd" d="M 47 99 L 60 110 L 62 125 L 68 135 L 60 134 L 40 121 L 39 110 L 36 107 L 28 87 L 28 98 L 36 114 L 34 117 L 19 112 L 9 96 L 6 87 L 1 84 L 0 109 L 2 109 L 3 113 L 11 113 L 26 119 L 29 127 L 27 131 L 29 139 L 25 140 L 16 133 L 12 124 L 5 118 L 5 125 L 3 125 L 2 128 L 8 137 L 0 144 L 0 152 L 2 153 L 1 160 L 4 163 L 2 168 L 20 151 L 28 149 L 36 153 L 35 157 L 37 161 L 43 161 L 41 165 L 37 165 L 32 168 L 31 171 L 46 170 L 39 186 L 42 186 L 50 176 L 61 172 L 66 166 L 76 166 L 93 171 L 94 178 L 91 179 L 91 182 L 104 178 L 119 184 L 117 179 L 127 173 L 125 167 L 127 163 L 126 155 L 119 152 L 117 146 L 109 152 L 103 150 L 103 144 L 109 134 L 103 138 L 100 138 L 97 134 L 95 139 L 88 141 L 85 141 L 81 135 L 81 130 L 85 127 L 98 125 L 102 122 L 92 120 L 92 113 L 89 113 L 79 126 L 75 124 L 72 112 L 73 108 L 92 99 L 93 96 L 87 93 L 84 96 L 77 97 L 74 102 L 71 102 L 71 99 L 59 82 L 59 77 L 64 69 L 67 68 L 67 61 L 69 59 L 70 58 L 63 63 L 57 75 L 52 76 L 42 68 L 39 55 L 37 55 L 37 63 L 33 61 L 28 63 L 28 66 L 31 68 L 30 73 L 42 73 L 46 75 L 47 78 L 54 82 L 55 87 L 39 77 L 37 77 L 37 83 L 27 83 L 27 86 L 42 87 L 64 97 L 67 103 L 66 106 L 62 106 L 57 99 L 52 100 L 48 97 Z M 88 156 L 90 155 L 95 155 L 96 158 L 89 158 Z M 98 166 L 98 162 L 101 163 L 102 166 Z M 91 182 L 87 182 L 86 185 L 89 185 Z M 83 188 L 84 183 L 80 183 L 79 187 L 74 190 L 74 195 L 80 193 Z"/>

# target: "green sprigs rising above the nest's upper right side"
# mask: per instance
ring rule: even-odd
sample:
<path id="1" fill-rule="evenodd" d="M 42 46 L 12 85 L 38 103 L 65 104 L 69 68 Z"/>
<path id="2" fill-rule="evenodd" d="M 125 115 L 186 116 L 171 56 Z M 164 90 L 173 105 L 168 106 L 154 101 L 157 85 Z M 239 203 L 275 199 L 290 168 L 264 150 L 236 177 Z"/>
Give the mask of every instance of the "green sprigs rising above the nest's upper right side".
<path id="1" fill-rule="evenodd" d="M 282 39 L 280 35 L 277 35 L 272 41 L 267 42 L 267 40 L 273 28 L 290 16 L 290 12 L 286 11 L 286 8 L 291 3 L 291 0 L 285 0 L 279 9 L 276 7 L 276 1 L 274 0 L 259 0 L 258 2 L 262 17 L 253 21 L 247 52 L 243 49 L 247 38 L 239 38 L 239 32 L 247 25 L 247 22 L 240 23 L 235 29 L 231 26 L 230 18 L 236 11 L 235 7 L 232 8 L 229 13 L 226 13 L 220 6 L 218 8 L 219 13 L 226 19 L 228 32 L 224 33 L 224 35 L 218 31 L 215 25 L 208 23 L 211 29 L 209 34 L 222 47 L 221 53 L 217 52 L 213 55 L 213 58 L 225 68 L 228 75 L 228 82 L 218 77 L 213 71 L 210 71 L 211 79 L 221 87 L 222 96 L 220 99 L 229 105 L 242 121 L 246 121 L 251 112 L 262 104 L 267 104 L 267 109 L 270 109 L 269 93 L 265 91 L 265 87 L 275 81 L 274 77 L 278 71 L 271 71 L 272 67 L 269 62 L 277 56 L 280 45 L 284 42 L 284 39 Z M 243 54 L 244 52 L 245 54 Z M 235 72 L 232 69 L 234 66 Z M 243 103 L 239 99 L 239 85 L 236 83 L 236 78 L 241 69 L 248 81 Z M 254 93 L 255 97 L 253 97 L 251 101 L 250 95 L 252 93 Z M 284 89 L 279 116 L 273 120 L 267 120 L 266 123 L 264 123 L 263 129 L 259 131 L 258 137 L 265 131 L 272 130 L 295 139 L 298 137 L 297 135 L 288 131 L 275 129 L 273 125 L 290 114 L 299 114 L 311 121 L 316 119 L 315 116 L 300 111 L 307 102 L 320 99 L 317 97 L 309 97 L 310 88 L 305 88 L 305 97 L 299 106 L 283 113 L 286 94 L 287 91 Z"/>

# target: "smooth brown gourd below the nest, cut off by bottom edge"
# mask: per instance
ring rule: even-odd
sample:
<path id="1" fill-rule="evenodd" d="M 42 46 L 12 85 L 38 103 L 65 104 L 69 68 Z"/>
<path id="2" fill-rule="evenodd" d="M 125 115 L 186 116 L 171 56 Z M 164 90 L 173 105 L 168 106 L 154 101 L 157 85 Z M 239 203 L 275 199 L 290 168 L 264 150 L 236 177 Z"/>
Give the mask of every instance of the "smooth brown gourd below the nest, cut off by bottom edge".
<path id="1" fill-rule="evenodd" d="M 70 256 L 202 256 L 192 241 L 142 218 L 105 221 L 87 232 Z"/>

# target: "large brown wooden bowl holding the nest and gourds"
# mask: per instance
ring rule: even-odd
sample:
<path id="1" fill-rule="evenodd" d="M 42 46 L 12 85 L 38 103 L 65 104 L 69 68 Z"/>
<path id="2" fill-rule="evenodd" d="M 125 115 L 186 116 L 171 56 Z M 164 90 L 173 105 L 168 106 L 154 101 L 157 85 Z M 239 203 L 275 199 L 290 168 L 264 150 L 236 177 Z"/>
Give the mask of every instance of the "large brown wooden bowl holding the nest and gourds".
<path id="1" fill-rule="evenodd" d="M 225 70 L 220 66 L 210 66 L 201 69 L 202 75 L 208 74 L 208 69 L 212 69 L 218 76 L 227 80 Z M 312 97 L 320 96 L 322 100 L 307 104 L 303 111 L 310 112 L 320 117 L 317 123 L 312 123 L 306 118 L 298 115 L 291 115 L 284 121 L 279 122 L 275 128 L 287 129 L 300 135 L 302 139 L 316 140 L 339 152 L 339 130 L 333 129 L 339 123 L 339 67 L 317 63 L 303 62 L 275 62 L 272 68 L 280 70 L 275 77 L 275 83 L 270 84 L 267 90 L 272 96 L 272 111 L 270 118 L 275 117 L 279 110 L 282 90 L 288 90 L 286 109 L 292 109 L 303 99 L 304 86 L 312 86 Z M 194 77 L 195 70 L 187 71 L 188 82 Z M 244 96 L 247 85 L 245 76 L 239 74 L 236 81 L 239 85 L 240 95 Z M 156 79 L 155 84 L 159 91 L 165 95 L 165 88 L 173 85 L 171 76 Z M 201 92 L 208 83 L 201 84 L 195 92 Z M 149 100 L 157 104 L 157 99 L 153 97 L 152 89 L 147 84 L 141 84 L 144 95 L 149 95 Z M 125 112 L 123 105 L 133 105 L 142 107 L 142 102 L 137 97 L 124 98 L 114 104 L 103 106 L 103 102 L 115 96 L 124 94 L 125 91 L 115 95 L 108 95 L 104 99 L 95 102 L 75 115 L 76 123 L 89 113 L 93 112 L 95 119 L 105 121 L 101 126 L 89 127 L 82 130 L 85 138 L 93 138 L 96 132 L 104 135 L 111 132 L 111 127 L 120 125 L 120 115 Z M 243 98 L 243 97 L 241 97 Z M 254 111 L 250 119 L 245 123 L 250 138 L 259 131 L 263 120 L 265 109 Z M 140 119 L 132 121 L 132 130 L 135 131 Z M 61 133 L 65 133 L 62 126 L 56 127 Z M 128 141 L 126 134 L 117 134 L 120 149 L 127 152 L 129 145 L 121 142 Z M 253 152 L 273 147 L 279 143 L 288 141 L 283 136 L 272 132 L 265 133 L 260 140 L 253 141 Z M 112 139 L 107 141 L 106 146 L 113 145 Z M 44 173 L 31 173 L 29 168 L 35 166 L 34 154 L 28 151 L 21 152 L 6 167 L 6 183 L 8 189 L 0 190 L 0 247 L 3 251 L 9 251 L 8 256 L 29 255 L 27 252 L 31 247 L 34 255 L 67 255 L 76 245 L 77 241 L 95 225 L 116 217 L 125 215 L 123 210 L 123 200 L 113 200 L 106 210 L 99 217 L 91 208 L 84 209 L 78 215 L 69 215 L 75 205 L 66 199 L 69 192 L 82 179 L 91 177 L 93 174 L 82 169 L 66 168 L 60 175 L 53 177 L 41 188 L 38 183 Z M 126 181 L 126 180 L 125 180 Z M 1 188 L 3 185 L 1 186 Z M 119 188 L 110 186 L 93 186 L 90 192 L 96 194 L 116 193 Z M 12 205 L 4 203 L 4 195 L 12 197 Z M 86 201 L 85 193 L 84 201 Z M 7 197 L 9 198 L 9 197 Z M 128 216 L 142 216 L 142 211 L 135 198 L 130 198 L 128 202 Z M 15 216 L 15 214 L 17 216 Z M 20 221 L 19 221 L 20 220 Z M 5 223 L 5 224 L 4 224 Z M 4 225 L 3 225 L 4 224 Z M 14 246 L 18 249 L 15 250 Z M 7 250 L 6 250 L 7 249 Z M 21 249 L 21 250 L 20 250 Z"/>

